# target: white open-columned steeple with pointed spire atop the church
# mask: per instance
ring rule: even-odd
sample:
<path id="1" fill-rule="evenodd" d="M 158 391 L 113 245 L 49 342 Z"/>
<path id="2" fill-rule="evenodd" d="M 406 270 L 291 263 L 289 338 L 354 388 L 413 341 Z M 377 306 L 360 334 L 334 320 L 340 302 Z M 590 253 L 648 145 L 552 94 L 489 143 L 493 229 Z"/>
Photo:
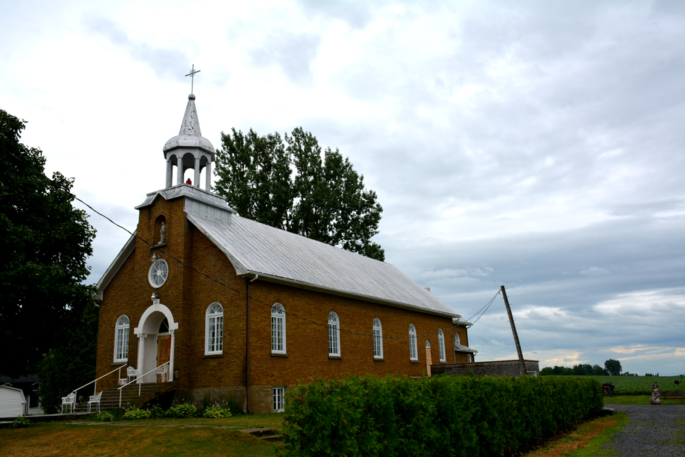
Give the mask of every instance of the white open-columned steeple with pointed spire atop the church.
<path id="1" fill-rule="evenodd" d="M 176 184 L 183 184 L 183 175 L 187 169 L 195 169 L 195 178 L 192 180 L 192 185 L 195 187 L 200 187 L 200 171 L 206 168 L 205 190 L 211 192 L 214 146 L 200 132 L 200 123 L 195 109 L 195 95 L 188 95 L 188 105 L 181 129 L 177 136 L 164 145 L 164 158 L 166 159 L 166 188 L 172 186 L 171 171 L 176 165 Z"/>

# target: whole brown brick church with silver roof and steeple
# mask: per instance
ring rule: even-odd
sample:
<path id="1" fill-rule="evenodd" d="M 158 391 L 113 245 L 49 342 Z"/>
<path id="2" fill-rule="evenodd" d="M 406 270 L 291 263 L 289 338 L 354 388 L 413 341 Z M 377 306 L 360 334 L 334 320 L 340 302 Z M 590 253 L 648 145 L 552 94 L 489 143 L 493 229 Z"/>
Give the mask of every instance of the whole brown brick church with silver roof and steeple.
<path id="1" fill-rule="evenodd" d="M 272 412 L 311 378 L 473 361 L 470 323 L 393 265 L 240 217 L 212 193 L 194 95 L 164 158 L 166 185 L 136 207 L 136 236 L 97 284 L 97 377 L 125 365 L 158 382 L 164 365 L 184 399 Z"/>

